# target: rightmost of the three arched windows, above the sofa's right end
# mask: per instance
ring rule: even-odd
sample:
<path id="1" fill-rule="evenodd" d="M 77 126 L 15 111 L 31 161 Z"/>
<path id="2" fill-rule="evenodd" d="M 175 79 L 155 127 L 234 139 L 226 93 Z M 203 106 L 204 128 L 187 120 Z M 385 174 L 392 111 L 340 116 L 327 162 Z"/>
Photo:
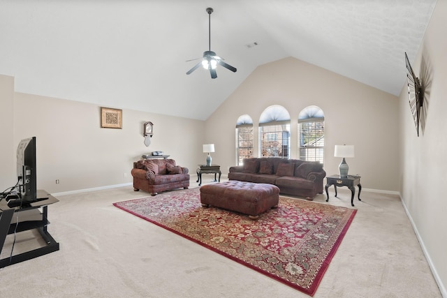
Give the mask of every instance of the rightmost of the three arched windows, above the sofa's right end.
<path id="1" fill-rule="evenodd" d="M 324 113 L 316 105 L 298 115 L 298 158 L 324 162 Z"/>

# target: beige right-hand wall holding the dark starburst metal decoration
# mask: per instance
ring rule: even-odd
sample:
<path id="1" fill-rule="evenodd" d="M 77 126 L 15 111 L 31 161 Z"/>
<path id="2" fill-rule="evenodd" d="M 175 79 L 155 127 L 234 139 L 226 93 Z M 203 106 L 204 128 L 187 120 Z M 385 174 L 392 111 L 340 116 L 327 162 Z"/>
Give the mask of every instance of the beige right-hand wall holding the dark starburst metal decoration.
<path id="1" fill-rule="evenodd" d="M 416 75 L 424 80 L 425 129 L 416 135 L 406 86 L 400 94 L 402 201 L 432 266 L 441 292 L 447 297 L 447 1 L 439 0 L 416 61 Z"/>

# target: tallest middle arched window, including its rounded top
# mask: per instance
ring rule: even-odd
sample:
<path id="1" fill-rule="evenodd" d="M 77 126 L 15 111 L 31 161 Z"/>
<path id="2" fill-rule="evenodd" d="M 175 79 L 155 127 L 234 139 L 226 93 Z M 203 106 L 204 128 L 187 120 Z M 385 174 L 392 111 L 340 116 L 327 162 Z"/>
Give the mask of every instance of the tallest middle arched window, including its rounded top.
<path id="1" fill-rule="evenodd" d="M 290 158 L 291 117 L 281 105 L 271 105 L 259 118 L 259 149 L 262 157 Z"/>

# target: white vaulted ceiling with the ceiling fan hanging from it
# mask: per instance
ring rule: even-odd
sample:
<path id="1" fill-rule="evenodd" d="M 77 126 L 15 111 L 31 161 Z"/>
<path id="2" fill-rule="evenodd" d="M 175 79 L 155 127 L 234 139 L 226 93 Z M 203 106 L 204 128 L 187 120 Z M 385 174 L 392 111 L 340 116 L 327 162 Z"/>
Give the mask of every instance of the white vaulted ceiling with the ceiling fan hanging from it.
<path id="1" fill-rule="evenodd" d="M 15 90 L 207 119 L 261 64 L 295 57 L 398 95 L 436 0 L 0 0 Z M 198 68 L 208 50 L 237 68 Z M 252 43 L 254 47 L 248 47 Z"/>

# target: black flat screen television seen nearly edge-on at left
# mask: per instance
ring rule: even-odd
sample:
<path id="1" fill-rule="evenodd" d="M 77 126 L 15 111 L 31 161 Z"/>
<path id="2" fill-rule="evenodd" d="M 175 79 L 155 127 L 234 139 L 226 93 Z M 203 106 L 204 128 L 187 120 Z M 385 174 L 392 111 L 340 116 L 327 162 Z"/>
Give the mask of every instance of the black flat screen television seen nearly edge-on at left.
<path id="1" fill-rule="evenodd" d="M 22 204 L 36 202 L 36 137 L 21 140 L 17 146 L 17 178 Z"/>

